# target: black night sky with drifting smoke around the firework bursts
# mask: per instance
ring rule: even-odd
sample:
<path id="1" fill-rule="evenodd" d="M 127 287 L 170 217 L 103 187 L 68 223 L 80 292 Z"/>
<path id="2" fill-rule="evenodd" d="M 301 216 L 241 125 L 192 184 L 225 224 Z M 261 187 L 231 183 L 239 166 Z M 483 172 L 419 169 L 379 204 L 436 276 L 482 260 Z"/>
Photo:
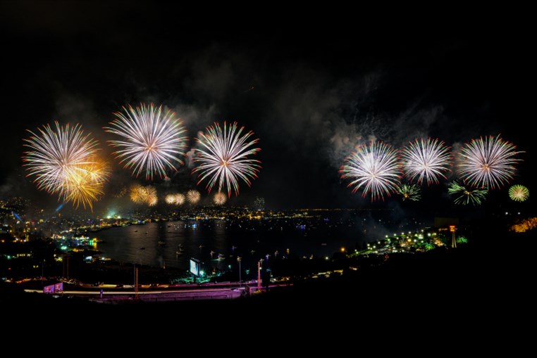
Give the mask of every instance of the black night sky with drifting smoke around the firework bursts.
<path id="1" fill-rule="evenodd" d="M 172 108 L 189 148 L 215 121 L 254 132 L 259 179 L 242 183 L 230 203 L 261 196 L 273 209 L 400 207 L 397 196 L 371 204 L 351 193 L 338 168 L 371 139 L 402 148 L 428 136 L 457 148 L 501 134 L 525 152 L 512 183 L 532 189 L 534 39 L 521 15 L 242 8 L 230 17 L 157 1 L 0 4 L 4 198 L 58 204 L 24 177 L 27 129 L 78 122 L 111 153 L 102 127 L 121 106 L 140 102 Z M 113 206 L 121 187 L 148 184 L 109 160 L 113 176 L 97 210 Z M 194 188 L 191 171 L 153 184 L 162 194 Z M 423 205 L 449 205 L 446 182 L 425 186 Z M 495 195 L 507 197 L 507 188 Z"/>

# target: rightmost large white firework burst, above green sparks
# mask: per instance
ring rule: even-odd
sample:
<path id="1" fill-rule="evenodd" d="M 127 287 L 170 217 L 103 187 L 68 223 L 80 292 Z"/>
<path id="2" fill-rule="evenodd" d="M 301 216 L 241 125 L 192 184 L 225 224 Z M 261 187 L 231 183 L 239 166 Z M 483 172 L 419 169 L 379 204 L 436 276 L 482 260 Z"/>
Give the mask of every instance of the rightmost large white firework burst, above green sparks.
<path id="1" fill-rule="evenodd" d="M 464 183 L 480 188 L 500 188 L 514 175 L 514 165 L 520 160 L 516 146 L 503 141 L 500 135 L 472 139 L 461 148 L 459 176 Z"/>

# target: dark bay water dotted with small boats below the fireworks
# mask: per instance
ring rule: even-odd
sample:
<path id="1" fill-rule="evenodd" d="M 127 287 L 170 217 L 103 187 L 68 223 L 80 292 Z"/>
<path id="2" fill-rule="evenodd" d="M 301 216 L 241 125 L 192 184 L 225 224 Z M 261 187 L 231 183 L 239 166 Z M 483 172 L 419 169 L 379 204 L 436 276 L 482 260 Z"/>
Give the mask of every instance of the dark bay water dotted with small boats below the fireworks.
<path id="1" fill-rule="evenodd" d="M 160 221 L 106 229 L 95 236 L 102 255 L 119 262 L 186 271 L 195 258 L 202 269 L 225 270 L 238 265 L 237 256 L 243 268 L 279 255 L 331 257 L 341 248 L 359 249 L 401 228 L 386 213 L 321 212 L 307 218 Z M 178 255 L 179 247 L 183 252 Z"/>

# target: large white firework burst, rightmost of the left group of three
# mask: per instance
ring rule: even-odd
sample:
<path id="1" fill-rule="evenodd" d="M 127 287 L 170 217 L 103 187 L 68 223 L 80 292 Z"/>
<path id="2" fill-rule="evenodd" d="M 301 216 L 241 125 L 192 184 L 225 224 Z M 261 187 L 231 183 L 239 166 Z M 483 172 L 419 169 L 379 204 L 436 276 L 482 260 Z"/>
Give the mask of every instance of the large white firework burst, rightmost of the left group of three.
<path id="1" fill-rule="evenodd" d="M 229 127 L 224 122 L 223 130 L 220 124 L 215 122 L 214 126 L 206 128 L 206 134 L 201 133 L 196 138 L 201 148 L 196 149 L 194 160 L 200 164 L 192 170 L 192 173 L 199 172 L 198 185 L 204 179 L 209 180 L 206 184 L 209 193 L 218 183 L 218 191 L 224 188 L 230 197 L 233 188 L 235 196 L 238 196 L 239 179 L 251 186 L 250 180 L 257 178 L 261 162 L 247 157 L 261 151 L 260 148 L 250 148 L 259 139 L 247 141 L 254 133 L 247 132 L 241 136 L 243 130 L 244 127 L 237 129 L 237 122 L 233 122 Z"/>

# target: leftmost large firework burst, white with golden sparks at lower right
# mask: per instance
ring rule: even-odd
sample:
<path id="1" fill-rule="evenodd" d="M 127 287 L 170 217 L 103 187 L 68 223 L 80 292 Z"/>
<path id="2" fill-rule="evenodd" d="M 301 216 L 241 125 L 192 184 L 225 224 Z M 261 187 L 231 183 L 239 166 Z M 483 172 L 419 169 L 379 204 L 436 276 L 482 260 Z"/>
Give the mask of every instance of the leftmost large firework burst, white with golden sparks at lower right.
<path id="1" fill-rule="evenodd" d="M 60 126 L 56 130 L 49 124 L 30 132 L 30 139 L 23 139 L 30 148 L 23 155 L 27 177 L 35 176 L 39 190 L 58 194 L 58 200 L 70 201 L 77 207 L 88 205 L 103 195 L 104 182 L 109 176 L 106 165 L 97 159 L 98 142 L 84 135 L 80 124 Z"/>

